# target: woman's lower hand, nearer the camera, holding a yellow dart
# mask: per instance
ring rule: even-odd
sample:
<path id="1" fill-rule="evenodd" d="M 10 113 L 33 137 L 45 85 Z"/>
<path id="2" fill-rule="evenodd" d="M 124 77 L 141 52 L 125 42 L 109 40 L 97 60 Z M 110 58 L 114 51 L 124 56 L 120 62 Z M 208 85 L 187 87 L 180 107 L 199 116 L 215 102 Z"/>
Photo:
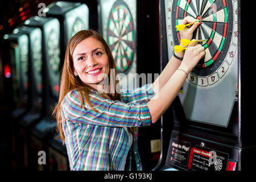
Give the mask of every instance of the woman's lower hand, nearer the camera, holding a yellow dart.
<path id="1" fill-rule="evenodd" d="M 204 56 L 205 51 L 201 44 L 190 43 L 185 50 L 184 58 L 179 68 L 183 69 L 188 74 Z"/>

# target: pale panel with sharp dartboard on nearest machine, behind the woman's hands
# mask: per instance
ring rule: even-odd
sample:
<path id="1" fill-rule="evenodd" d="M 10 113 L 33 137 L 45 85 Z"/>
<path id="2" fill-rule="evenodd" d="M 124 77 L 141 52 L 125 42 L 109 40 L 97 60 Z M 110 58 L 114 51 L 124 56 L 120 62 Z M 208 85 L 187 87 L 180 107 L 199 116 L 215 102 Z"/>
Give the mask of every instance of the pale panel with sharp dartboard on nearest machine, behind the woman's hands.
<path id="1" fill-rule="evenodd" d="M 227 127 L 238 92 L 237 1 L 166 0 L 168 58 L 180 44 L 175 26 L 185 16 L 200 20 L 193 39 L 201 43 L 205 57 L 189 73 L 178 94 L 189 121 Z"/>

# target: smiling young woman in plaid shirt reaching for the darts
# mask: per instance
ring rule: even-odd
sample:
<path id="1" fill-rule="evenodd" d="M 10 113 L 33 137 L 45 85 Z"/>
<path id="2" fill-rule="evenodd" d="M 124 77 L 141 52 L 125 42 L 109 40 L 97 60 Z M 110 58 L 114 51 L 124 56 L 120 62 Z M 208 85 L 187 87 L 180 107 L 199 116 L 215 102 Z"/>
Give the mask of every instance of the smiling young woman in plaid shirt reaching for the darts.
<path id="1" fill-rule="evenodd" d="M 183 24 L 193 21 L 186 17 Z M 198 25 L 181 31 L 181 38 L 191 40 Z M 175 55 L 183 60 L 172 56 L 153 84 L 120 94 L 104 93 L 106 88 L 99 84 L 106 76 L 108 89 L 118 85 L 112 79 L 117 71 L 108 44 L 92 30 L 74 35 L 67 46 L 59 103 L 53 111 L 71 170 L 142 170 L 132 129 L 158 121 L 204 55 L 201 45 L 189 44 L 185 52 Z"/>

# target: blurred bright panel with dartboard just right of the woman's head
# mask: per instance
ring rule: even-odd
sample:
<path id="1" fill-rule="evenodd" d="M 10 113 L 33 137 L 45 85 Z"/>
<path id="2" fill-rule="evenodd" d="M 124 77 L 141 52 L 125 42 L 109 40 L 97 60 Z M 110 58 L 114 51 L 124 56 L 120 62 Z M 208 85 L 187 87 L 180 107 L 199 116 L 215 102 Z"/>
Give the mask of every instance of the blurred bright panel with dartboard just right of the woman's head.
<path id="1" fill-rule="evenodd" d="M 136 1 L 101 1 L 102 34 L 119 73 L 136 73 Z"/>

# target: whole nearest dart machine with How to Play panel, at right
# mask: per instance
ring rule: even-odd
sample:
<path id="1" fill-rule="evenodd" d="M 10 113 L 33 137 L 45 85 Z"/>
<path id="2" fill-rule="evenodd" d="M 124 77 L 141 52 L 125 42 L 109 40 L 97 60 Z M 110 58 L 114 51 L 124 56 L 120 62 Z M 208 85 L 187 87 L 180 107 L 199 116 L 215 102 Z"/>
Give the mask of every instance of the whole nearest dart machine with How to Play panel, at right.
<path id="1" fill-rule="evenodd" d="M 155 170 L 250 169 L 255 141 L 249 137 L 253 124 L 241 121 L 240 1 L 160 1 L 163 67 L 180 44 L 175 26 L 185 16 L 200 20 L 193 39 L 208 39 L 202 43 L 206 55 L 171 105 L 173 117 L 163 116 L 162 158 Z M 164 123 L 172 119 L 168 138 L 170 129 Z"/>

